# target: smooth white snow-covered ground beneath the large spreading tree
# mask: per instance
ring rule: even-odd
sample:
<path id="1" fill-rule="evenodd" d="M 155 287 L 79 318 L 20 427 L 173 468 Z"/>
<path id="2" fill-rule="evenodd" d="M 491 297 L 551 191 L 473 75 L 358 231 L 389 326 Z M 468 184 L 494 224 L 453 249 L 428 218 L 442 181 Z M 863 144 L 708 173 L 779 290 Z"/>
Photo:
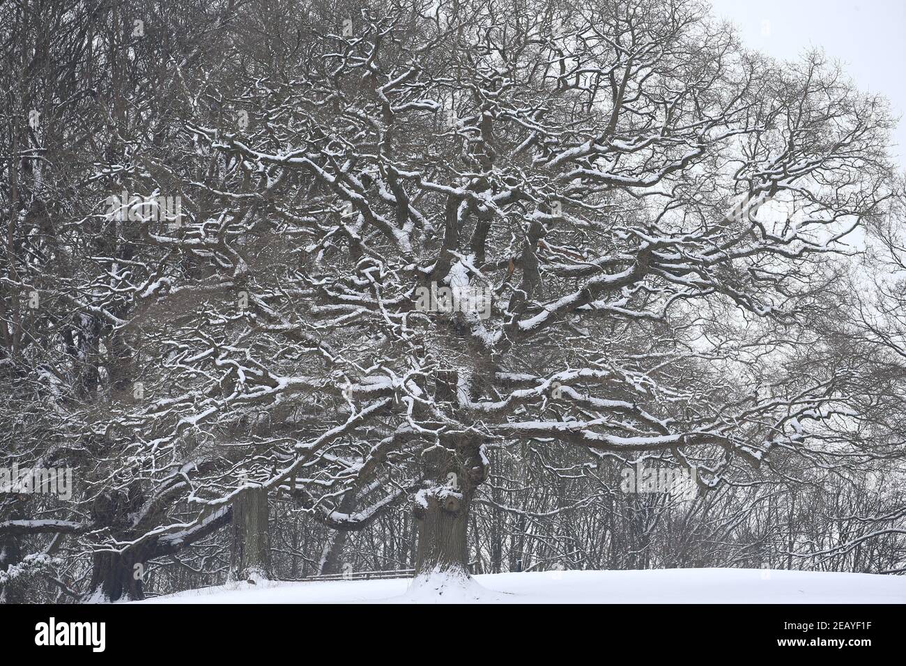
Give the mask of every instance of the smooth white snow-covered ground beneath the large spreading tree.
<path id="1" fill-rule="evenodd" d="M 906 576 L 763 569 L 486 574 L 462 586 L 410 578 L 208 587 L 142 603 L 906 603 Z M 439 588 L 439 589 L 438 589 Z"/>

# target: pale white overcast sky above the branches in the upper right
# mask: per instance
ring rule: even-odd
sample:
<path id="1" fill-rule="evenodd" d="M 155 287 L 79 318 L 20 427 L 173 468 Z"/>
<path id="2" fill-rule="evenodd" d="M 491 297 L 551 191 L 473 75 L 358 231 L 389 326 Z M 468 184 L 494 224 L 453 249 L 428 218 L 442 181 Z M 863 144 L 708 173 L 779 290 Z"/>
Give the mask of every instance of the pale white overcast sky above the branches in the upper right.
<path id="1" fill-rule="evenodd" d="M 710 0 L 751 48 L 795 59 L 819 46 L 863 91 L 891 101 L 892 155 L 906 165 L 906 0 Z"/>

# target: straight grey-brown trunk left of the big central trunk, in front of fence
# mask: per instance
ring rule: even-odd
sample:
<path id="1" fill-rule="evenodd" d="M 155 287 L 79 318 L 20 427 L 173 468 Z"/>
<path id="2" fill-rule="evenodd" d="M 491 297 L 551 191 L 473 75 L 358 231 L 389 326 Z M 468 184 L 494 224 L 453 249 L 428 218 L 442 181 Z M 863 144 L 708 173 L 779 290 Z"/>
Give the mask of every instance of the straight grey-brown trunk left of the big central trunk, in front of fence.
<path id="1" fill-rule="evenodd" d="M 246 488 L 233 499 L 233 548 L 230 577 L 271 577 L 271 544 L 267 529 L 267 489 Z"/>

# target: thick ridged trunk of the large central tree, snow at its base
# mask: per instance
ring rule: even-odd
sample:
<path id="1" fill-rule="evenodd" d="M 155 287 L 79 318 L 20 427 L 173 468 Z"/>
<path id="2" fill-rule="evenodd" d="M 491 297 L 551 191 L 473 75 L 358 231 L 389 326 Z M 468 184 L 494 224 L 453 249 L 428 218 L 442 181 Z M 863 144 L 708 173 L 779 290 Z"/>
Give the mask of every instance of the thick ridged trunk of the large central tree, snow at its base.
<path id="1" fill-rule="evenodd" d="M 416 576 L 434 573 L 468 576 L 468 508 L 487 478 L 477 438 L 458 436 L 424 452 L 430 486 L 419 491 L 414 516 L 419 545 Z"/>

